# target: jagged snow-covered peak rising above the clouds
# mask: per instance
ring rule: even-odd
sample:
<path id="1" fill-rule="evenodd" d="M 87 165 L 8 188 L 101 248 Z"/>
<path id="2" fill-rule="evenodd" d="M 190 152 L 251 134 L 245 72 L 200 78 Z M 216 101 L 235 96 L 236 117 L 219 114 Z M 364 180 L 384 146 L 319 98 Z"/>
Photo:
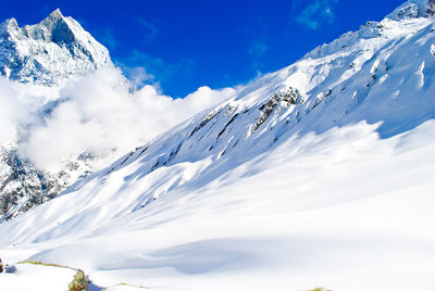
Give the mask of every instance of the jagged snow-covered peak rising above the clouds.
<path id="1" fill-rule="evenodd" d="M 57 86 L 111 65 L 109 51 L 59 9 L 36 25 L 0 25 L 0 74 L 11 80 Z"/>

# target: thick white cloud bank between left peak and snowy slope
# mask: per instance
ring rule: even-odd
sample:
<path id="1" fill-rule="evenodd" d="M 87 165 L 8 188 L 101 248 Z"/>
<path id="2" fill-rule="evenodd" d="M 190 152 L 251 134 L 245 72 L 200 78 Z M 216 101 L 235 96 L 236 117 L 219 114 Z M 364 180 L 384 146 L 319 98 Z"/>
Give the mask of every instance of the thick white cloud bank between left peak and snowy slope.
<path id="1" fill-rule="evenodd" d="M 229 88 L 201 87 L 173 99 L 151 85 L 132 93 L 116 68 L 100 69 L 58 89 L 1 78 L 0 142 L 16 144 L 46 170 L 57 170 L 62 161 L 85 151 L 107 162 L 234 94 Z"/>

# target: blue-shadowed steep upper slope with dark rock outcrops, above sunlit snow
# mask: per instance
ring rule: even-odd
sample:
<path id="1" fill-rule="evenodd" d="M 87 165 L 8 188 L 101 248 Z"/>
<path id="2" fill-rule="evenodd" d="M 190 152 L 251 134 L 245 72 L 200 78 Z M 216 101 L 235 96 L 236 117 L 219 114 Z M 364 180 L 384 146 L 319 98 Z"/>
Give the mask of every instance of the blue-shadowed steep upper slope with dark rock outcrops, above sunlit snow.
<path id="1" fill-rule="evenodd" d="M 211 181 L 295 135 L 362 121 L 378 124 L 381 138 L 405 132 L 435 116 L 434 27 L 433 18 L 369 22 L 246 86 L 228 102 L 132 152 L 110 172 L 129 162 L 140 164 L 140 175 L 197 163 L 200 175 L 161 180 L 148 191 L 147 204 L 171 189 Z"/>

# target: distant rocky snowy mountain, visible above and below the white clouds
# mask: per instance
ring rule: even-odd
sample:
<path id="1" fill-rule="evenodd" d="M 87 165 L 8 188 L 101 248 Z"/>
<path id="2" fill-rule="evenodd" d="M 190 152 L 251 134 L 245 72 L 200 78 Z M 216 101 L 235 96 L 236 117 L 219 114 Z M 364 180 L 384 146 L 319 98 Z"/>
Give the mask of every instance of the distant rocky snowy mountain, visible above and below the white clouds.
<path id="1" fill-rule="evenodd" d="M 0 24 L 0 74 L 12 81 L 55 87 L 107 66 L 113 66 L 109 51 L 59 9 L 39 24 L 18 27 L 14 18 Z M 44 107 L 50 109 L 50 103 Z M 44 110 L 41 119 L 50 113 Z M 54 198 L 89 174 L 92 157 L 84 152 L 48 173 L 18 154 L 15 143 L 0 144 L 0 223 Z"/>

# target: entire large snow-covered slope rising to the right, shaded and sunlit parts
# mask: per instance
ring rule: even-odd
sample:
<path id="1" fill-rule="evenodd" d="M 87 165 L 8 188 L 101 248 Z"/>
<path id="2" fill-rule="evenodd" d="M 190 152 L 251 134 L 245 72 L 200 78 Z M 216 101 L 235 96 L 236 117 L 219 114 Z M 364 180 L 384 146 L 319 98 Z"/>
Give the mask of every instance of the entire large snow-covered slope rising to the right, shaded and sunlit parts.
<path id="1" fill-rule="evenodd" d="M 2 224 L 0 255 L 109 290 L 431 290 L 433 11 L 410 0 L 238 89 Z"/>

